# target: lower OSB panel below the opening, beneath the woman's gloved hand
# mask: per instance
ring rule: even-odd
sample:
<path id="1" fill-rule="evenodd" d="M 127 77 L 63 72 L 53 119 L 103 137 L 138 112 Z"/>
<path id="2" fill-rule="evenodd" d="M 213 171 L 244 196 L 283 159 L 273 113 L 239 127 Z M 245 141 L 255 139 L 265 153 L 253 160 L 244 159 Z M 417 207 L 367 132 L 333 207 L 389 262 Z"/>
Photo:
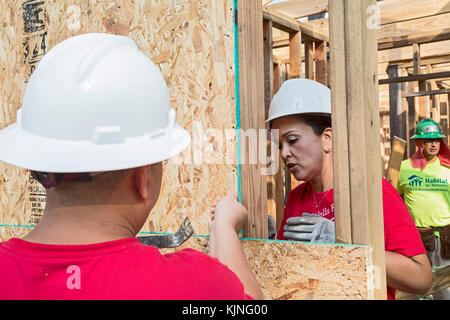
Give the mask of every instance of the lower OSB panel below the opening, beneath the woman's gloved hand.
<path id="1" fill-rule="evenodd" d="M 268 299 L 360 300 L 368 298 L 369 247 L 242 240 L 244 253 Z M 209 252 L 209 238 L 191 237 L 174 252 Z"/>

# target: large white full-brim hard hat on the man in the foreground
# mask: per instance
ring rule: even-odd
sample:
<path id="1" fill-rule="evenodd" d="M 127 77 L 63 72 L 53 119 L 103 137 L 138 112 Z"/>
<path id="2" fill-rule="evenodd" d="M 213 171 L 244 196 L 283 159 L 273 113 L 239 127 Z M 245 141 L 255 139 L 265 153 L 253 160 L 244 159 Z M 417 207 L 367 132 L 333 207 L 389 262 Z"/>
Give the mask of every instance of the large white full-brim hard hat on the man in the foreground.
<path id="1" fill-rule="evenodd" d="M 128 37 L 90 33 L 52 48 L 33 72 L 0 160 L 41 172 L 161 162 L 190 143 L 158 68 Z"/>

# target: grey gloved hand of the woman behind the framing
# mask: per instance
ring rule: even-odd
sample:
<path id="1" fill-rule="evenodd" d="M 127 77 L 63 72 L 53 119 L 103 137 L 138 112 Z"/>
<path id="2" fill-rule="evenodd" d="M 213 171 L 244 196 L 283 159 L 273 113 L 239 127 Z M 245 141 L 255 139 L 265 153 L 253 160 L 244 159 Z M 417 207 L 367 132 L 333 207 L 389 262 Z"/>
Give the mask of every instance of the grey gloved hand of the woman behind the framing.
<path id="1" fill-rule="evenodd" d="M 334 243 L 334 222 L 318 215 L 304 213 L 286 220 L 283 236 L 290 240 Z"/>

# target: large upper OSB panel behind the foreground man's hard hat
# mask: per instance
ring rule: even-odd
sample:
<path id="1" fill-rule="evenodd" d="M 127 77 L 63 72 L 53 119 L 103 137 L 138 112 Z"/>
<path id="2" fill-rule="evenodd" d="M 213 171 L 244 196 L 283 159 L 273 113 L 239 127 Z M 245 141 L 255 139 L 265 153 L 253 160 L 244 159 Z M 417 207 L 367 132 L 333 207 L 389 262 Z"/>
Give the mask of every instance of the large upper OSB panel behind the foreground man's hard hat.
<path id="1" fill-rule="evenodd" d="M 1 1 L 0 129 L 15 121 L 29 76 L 56 43 L 86 32 L 131 37 L 160 68 L 176 120 L 193 138 L 166 165 L 142 231 L 174 232 L 188 215 L 197 234 L 209 234 L 212 201 L 237 183 L 235 137 L 226 143 L 208 131 L 236 125 L 233 12 L 233 0 Z M 232 159 L 210 164 L 219 154 Z M 0 224 L 34 225 L 44 207 L 45 189 L 26 170 L 0 163 Z"/>

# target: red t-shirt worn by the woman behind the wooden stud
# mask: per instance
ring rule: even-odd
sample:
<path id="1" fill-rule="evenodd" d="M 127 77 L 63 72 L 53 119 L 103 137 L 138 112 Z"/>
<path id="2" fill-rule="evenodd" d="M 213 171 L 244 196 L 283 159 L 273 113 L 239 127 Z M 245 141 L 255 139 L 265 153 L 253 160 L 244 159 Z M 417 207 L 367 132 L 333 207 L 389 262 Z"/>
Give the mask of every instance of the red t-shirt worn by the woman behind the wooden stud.
<path id="1" fill-rule="evenodd" d="M 314 195 L 313 192 L 311 183 L 305 182 L 289 193 L 277 239 L 287 240 L 283 237 L 283 227 L 290 217 L 299 217 L 307 212 L 334 221 L 333 189 L 328 192 L 314 193 Z M 382 183 L 382 193 L 385 250 L 407 257 L 425 254 L 426 250 L 419 231 L 406 205 L 394 187 L 385 179 Z M 388 286 L 387 296 L 389 300 L 394 300 L 395 289 Z"/>

